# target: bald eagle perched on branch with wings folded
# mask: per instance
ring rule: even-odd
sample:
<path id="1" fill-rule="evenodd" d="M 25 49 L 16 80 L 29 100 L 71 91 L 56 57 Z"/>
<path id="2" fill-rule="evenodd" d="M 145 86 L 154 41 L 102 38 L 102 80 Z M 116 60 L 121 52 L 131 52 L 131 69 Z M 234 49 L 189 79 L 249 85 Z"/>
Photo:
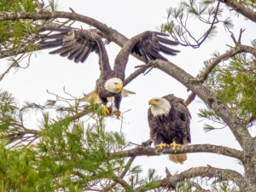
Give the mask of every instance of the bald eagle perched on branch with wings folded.
<path id="1" fill-rule="evenodd" d="M 189 109 L 181 98 L 173 94 L 161 98 L 154 97 L 148 101 L 148 125 L 150 139 L 155 147 L 187 145 L 191 143 Z M 186 154 L 170 154 L 169 159 L 183 164 L 187 160 Z"/>

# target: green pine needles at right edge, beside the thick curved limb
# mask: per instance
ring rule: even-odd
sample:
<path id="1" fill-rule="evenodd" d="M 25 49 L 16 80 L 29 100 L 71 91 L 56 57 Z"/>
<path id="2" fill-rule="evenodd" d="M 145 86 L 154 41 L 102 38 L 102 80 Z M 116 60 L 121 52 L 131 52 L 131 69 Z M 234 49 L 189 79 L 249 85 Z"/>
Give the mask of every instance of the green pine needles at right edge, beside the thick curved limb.
<path id="1" fill-rule="evenodd" d="M 245 125 L 256 118 L 256 61 L 253 57 L 245 53 L 233 56 L 228 63 L 212 70 L 206 85 L 243 119 Z M 199 115 L 224 125 L 209 108 L 201 109 Z M 205 128 L 211 131 L 216 127 L 206 125 Z"/>

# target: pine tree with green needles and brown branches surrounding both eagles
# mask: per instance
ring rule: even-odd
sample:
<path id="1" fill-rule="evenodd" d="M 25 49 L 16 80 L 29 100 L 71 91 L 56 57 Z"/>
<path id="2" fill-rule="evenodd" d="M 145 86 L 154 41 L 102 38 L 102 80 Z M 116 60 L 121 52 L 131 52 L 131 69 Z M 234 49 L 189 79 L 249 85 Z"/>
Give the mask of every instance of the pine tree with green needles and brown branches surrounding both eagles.
<path id="1" fill-rule="evenodd" d="M 81 21 L 94 26 L 99 35 L 122 46 L 125 36 L 92 20 L 85 15 L 59 12 L 55 1 L 1 0 L 0 2 L 0 58 L 11 61 L 0 80 L 13 68 L 20 68 L 20 61 L 29 61 L 33 51 L 41 49 L 37 42 L 40 32 L 52 27 L 72 27 L 71 22 Z M 167 20 L 161 25 L 180 45 L 200 48 L 207 40 L 218 35 L 219 27 L 230 32 L 234 46 L 225 53 L 215 53 L 205 62 L 198 78 L 177 67 L 170 61 L 155 61 L 143 66 L 127 77 L 125 84 L 139 74 L 155 67 L 184 84 L 191 95 L 206 104 L 199 116 L 228 127 L 241 145 L 241 150 L 210 144 L 191 145 L 165 151 L 133 145 L 125 140 L 121 131 L 107 131 L 102 105 L 82 103 L 55 94 L 55 100 L 44 105 L 26 102 L 22 107 L 5 90 L 0 92 L 0 190 L 1 191 L 209 191 L 193 178 L 218 179 L 212 182 L 212 191 L 256 191 L 256 142 L 247 131 L 256 119 L 256 44 L 241 43 L 243 30 L 238 38 L 232 33 L 236 25 L 235 12 L 256 22 L 255 1 L 195 1 L 179 3 L 168 9 Z M 230 12 L 229 12 L 230 11 Z M 62 23 L 56 19 L 63 19 Z M 197 20 L 206 29 L 193 34 L 189 20 Z M 251 38 L 251 37 L 249 37 Z M 29 62 L 28 62 L 29 63 Z M 29 66 L 29 65 L 28 65 Z M 28 67 L 27 66 L 27 67 Z M 24 68 L 24 67 L 23 67 Z M 25 67 L 26 68 L 26 67 Z M 68 95 L 68 94 L 67 94 Z M 70 95 L 68 95 L 70 96 Z M 24 125 L 27 113 L 40 113 L 38 129 Z M 113 113 L 110 114 L 111 118 Z M 206 125 L 206 131 L 220 127 Z M 199 166 L 166 177 L 149 169 L 146 177 L 133 161 L 141 155 L 183 154 L 211 152 L 240 160 L 245 176 L 229 169 Z M 148 157 L 150 158 L 150 157 Z M 244 181 L 243 179 L 249 178 Z M 235 184 L 229 186 L 228 181 Z M 211 180 L 212 181 L 212 180 Z"/>

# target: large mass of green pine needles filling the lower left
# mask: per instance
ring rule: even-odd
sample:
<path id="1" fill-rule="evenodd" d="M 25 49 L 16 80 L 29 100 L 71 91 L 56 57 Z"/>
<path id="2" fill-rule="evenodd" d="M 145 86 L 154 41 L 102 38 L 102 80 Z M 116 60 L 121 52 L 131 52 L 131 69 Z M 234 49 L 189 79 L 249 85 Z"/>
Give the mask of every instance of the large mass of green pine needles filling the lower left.
<path id="1" fill-rule="evenodd" d="M 27 102 L 19 108 L 6 91 L 0 93 L 0 190 L 1 191 L 84 191 L 111 188 L 134 191 L 159 187 L 154 170 L 142 177 L 135 158 L 112 154 L 129 148 L 121 132 L 106 131 L 99 104 L 69 107 L 48 101 Z M 53 119 L 50 110 L 57 112 Z M 35 130 L 23 124 L 26 113 L 42 113 Z M 80 114 L 85 113 L 79 119 Z M 116 183 L 124 179 L 121 186 Z"/>

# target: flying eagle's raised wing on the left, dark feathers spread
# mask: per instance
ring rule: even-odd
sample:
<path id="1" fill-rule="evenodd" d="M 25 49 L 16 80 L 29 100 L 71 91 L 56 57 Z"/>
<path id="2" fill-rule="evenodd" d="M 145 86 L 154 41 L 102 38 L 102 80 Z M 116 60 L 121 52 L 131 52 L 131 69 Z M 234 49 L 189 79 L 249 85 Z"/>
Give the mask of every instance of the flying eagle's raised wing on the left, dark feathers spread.
<path id="1" fill-rule="evenodd" d="M 110 68 L 108 54 L 102 38 L 90 30 L 73 30 L 52 28 L 49 32 L 54 34 L 41 34 L 41 41 L 38 45 L 42 49 L 55 49 L 49 54 L 59 54 L 75 62 L 84 62 L 91 52 L 99 55 L 100 66 Z M 104 65 L 104 66 L 102 66 Z"/>

